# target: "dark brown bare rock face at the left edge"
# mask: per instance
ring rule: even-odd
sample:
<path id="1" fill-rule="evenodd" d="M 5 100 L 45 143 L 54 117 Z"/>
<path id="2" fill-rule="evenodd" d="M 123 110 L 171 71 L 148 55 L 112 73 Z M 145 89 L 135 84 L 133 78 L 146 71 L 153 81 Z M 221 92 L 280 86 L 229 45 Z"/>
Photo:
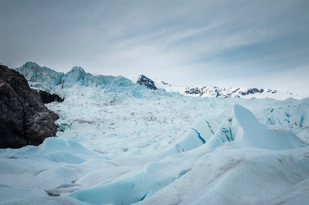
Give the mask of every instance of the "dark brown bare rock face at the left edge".
<path id="1" fill-rule="evenodd" d="M 39 92 L 17 71 L 0 65 L 0 148 L 40 145 L 54 136 L 58 114 L 48 110 Z"/>

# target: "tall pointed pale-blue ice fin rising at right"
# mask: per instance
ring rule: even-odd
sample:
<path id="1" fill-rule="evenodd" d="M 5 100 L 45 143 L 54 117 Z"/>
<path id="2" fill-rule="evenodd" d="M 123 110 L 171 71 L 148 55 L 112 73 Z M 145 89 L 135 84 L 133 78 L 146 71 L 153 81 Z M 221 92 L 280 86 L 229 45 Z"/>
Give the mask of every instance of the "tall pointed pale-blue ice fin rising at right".
<path id="1" fill-rule="evenodd" d="M 204 145 L 208 149 L 233 141 L 241 147 L 273 150 L 295 149 L 308 145 L 291 131 L 262 125 L 250 110 L 239 104 L 223 112 L 221 119 L 219 128 Z"/>

